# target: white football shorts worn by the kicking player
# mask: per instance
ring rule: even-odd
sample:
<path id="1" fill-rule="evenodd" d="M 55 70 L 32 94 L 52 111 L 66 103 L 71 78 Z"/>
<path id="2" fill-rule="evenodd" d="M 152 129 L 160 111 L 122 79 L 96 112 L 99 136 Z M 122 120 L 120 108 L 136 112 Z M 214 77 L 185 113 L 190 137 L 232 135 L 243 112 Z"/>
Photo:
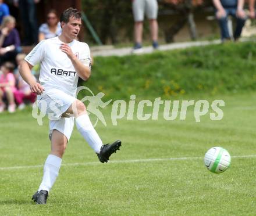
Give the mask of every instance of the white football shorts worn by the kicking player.
<path id="1" fill-rule="evenodd" d="M 47 89 L 42 95 L 37 96 L 37 105 L 41 112 L 49 118 L 49 139 L 51 140 L 52 131 L 64 134 L 69 141 L 74 127 L 74 117 L 62 117 L 62 114 L 69 109 L 76 100 L 73 96 L 59 89 Z"/>

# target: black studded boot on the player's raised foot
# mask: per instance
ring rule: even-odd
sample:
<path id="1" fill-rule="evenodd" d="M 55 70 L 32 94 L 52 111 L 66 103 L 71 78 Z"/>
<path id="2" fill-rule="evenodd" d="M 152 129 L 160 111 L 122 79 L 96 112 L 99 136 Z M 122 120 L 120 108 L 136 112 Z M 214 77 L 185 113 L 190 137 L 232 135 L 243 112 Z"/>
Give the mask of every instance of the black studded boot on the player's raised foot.
<path id="1" fill-rule="evenodd" d="M 121 141 L 116 141 L 114 143 L 112 143 L 111 145 L 106 144 L 106 145 L 102 145 L 101 146 L 101 152 L 99 152 L 98 158 L 99 161 L 101 161 L 101 163 L 108 163 L 109 157 L 111 156 L 111 154 L 113 154 L 114 152 L 116 152 L 117 150 L 119 150 L 119 147 L 121 146 Z"/>

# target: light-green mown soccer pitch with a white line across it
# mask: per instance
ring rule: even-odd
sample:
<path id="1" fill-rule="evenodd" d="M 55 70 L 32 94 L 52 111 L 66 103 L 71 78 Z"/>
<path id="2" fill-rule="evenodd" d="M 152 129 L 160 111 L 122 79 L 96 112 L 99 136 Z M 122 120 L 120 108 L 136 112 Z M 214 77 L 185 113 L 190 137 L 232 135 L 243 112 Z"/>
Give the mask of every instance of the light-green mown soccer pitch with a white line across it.
<path id="1" fill-rule="evenodd" d="M 49 153 L 48 121 L 38 126 L 28 108 L 0 116 L 0 215 L 255 215 L 256 95 L 201 99 L 225 100 L 224 118 L 195 123 L 122 119 L 96 129 L 102 141 L 123 141 L 108 164 L 99 163 L 77 129 L 46 206 L 32 203 Z M 213 146 L 232 157 L 223 174 L 203 163 Z"/>

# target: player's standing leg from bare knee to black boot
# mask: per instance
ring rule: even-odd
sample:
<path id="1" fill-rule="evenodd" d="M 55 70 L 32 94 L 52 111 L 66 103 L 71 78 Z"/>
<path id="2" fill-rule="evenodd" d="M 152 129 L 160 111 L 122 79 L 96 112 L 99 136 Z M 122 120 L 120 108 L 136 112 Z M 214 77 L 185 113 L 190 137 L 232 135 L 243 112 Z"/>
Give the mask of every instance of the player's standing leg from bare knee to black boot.
<path id="1" fill-rule="evenodd" d="M 44 175 L 38 191 L 32 197 L 37 204 L 46 204 L 49 190 L 51 190 L 61 168 L 62 156 L 67 146 L 67 138 L 62 132 L 54 129 L 51 134 L 51 153 L 44 164 Z"/>

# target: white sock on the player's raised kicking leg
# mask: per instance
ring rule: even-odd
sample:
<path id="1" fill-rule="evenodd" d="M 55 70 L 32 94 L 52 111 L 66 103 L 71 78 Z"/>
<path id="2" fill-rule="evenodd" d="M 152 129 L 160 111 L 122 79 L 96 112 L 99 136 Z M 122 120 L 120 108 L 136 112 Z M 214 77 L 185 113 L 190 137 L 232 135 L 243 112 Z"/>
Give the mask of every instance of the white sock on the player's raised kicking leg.
<path id="1" fill-rule="evenodd" d="M 93 124 L 91 124 L 88 114 L 83 114 L 76 118 L 76 127 L 83 138 L 93 148 L 95 153 L 99 153 L 102 146 L 101 138 L 95 131 Z"/>

